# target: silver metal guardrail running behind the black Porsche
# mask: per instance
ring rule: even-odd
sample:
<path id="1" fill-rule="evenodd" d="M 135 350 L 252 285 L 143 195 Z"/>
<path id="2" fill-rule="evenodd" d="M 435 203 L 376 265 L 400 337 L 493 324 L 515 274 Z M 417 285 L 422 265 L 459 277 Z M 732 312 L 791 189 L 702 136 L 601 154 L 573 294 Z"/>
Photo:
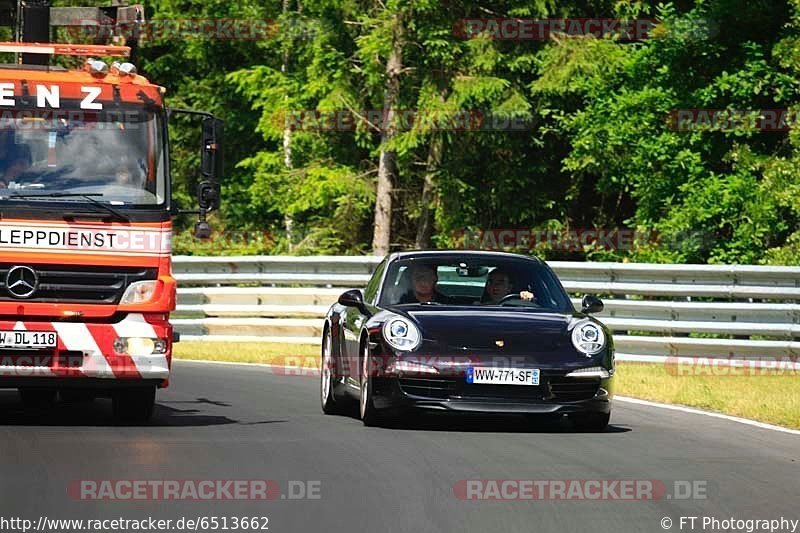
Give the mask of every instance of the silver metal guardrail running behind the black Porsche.
<path id="1" fill-rule="evenodd" d="M 342 288 L 363 286 L 380 260 L 175 257 L 181 288 L 173 322 L 186 339 L 316 343 L 321 317 Z M 800 300 L 800 268 L 559 261 L 550 266 L 572 295 L 604 295 L 605 309 L 597 316 L 614 330 L 621 359 L 796 360 L 800 355 L 794 340 L 800 337 L 800 304 L 794 303 Z"/>

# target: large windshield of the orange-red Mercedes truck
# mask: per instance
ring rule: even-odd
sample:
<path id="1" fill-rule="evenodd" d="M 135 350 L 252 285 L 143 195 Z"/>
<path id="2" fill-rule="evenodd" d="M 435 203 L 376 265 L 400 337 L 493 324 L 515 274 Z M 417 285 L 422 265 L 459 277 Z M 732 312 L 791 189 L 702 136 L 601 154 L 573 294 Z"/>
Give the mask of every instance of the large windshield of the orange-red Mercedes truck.
<path id="1" fill-rule="evenodd" d="M 85 194 L 115 205 L 163 204 L 162 121 L 159 112 L 134 105 L 91 112 L 5 110 L 0 198 L 80 202 Z"/>

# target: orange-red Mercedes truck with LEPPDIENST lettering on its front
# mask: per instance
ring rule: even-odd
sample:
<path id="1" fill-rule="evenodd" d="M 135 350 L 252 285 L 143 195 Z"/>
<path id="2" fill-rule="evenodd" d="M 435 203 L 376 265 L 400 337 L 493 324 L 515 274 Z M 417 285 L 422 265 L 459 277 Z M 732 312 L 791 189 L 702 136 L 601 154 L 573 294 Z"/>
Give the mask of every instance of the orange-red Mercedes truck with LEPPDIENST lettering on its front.
<path id="1" fill-rule="evenodd" d="M 119 28 L 141 23 L 142 6 L 33 4 L 0 0 L 0 21 L 23 21 L 20 42 L 0 42 L 0 52 L 19 54 L 0 64 L 0 388 L 36 405 L 56 394 L 109 396 L 117 418 L 143 422 L 169 385 L 179 340 L 169 321 L 172 217 L 195 214 L 196 234 L 209 235 L 223 123 L 168 108 L 165 89 L 137 73 L 135 39 L 43 42 L 51 26 L 85 20 L 72 9 L 97 9 L 103 24 L 110 13 Z M 3 18 L 3 9 L 21 13 Z M 49 56 L 85 63 L 68 70 Z M 167 122 L 178 113 L 201 126 L 196 211 L 172 203 Z"/>

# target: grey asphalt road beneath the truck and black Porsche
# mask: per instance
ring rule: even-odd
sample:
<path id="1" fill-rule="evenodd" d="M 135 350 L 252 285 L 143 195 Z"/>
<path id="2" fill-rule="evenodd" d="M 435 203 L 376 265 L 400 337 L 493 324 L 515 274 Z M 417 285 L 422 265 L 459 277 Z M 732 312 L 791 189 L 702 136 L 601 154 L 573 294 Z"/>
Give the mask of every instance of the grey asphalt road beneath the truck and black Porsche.
<path id="1" fill-rule="evenodd" d="M 317 383 L 263 367 L 178 362 L 147 427 L 115 426 L 107 400 L 37 412 L 24 410 L 15 391 L 0 391 L 0 518 L 266 516 L 271 532 L 657 532 L 663 517 L 673 531 L 680 516 L 800 519 L 795 435 L 623 403 L 603 434 L 572 432 L 566 421 L 530 427 L 517 417 L 438 414 L 402 429 L 365 428 L 323 415 Z M 87 479 L 269 479 L 284 496 L 289 481 L 318 481 L 319 498 L 122 502 L 68 494 L 71 481 Z M 677 480 L 706 494 L 465 501 L 453 487 L 466 479 L 657 480 L 671 494 Z"/>

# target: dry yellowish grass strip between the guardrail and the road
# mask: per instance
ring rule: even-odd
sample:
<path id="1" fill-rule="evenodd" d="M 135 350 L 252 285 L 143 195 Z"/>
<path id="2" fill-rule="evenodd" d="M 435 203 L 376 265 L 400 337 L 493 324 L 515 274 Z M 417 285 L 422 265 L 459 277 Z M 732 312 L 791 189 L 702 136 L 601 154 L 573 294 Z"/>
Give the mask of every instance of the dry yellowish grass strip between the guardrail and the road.
<path id="1" fill-rule="evenodd" d="M 180 359 L 240 363 L 319 364 L 319 347 L 249 342 L 180 342 Z M 695 369 L 698 370 L 698 369 Z M 731 375 L 724 368 L 676 375 L 666 365 L 617 364 L 616 393 L 655 402 L 687 405 L 800 429 L 800 375 Z"/>

